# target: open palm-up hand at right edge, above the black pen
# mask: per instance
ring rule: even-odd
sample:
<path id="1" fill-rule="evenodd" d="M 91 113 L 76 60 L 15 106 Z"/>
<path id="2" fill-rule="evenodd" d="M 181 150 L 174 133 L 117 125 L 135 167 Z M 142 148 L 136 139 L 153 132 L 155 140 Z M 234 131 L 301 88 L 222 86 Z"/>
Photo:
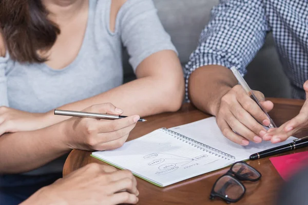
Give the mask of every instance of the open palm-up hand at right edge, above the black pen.
<path id="1" fill-rule="evenodd" d="M 299 114 L 279 128 L 269 129 L 264 135 L 264 140 L 271 140 L 272 143 L 284 141 L 308 125 L 308 80 L 303 87 L 306 92 L 306 101 Z"/>

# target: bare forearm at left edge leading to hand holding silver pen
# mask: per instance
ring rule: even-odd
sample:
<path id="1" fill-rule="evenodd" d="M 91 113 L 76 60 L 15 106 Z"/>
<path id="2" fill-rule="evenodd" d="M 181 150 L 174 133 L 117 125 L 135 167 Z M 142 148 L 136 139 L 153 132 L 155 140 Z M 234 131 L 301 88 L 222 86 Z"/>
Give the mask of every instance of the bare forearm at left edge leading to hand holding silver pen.
<path id="1" fill-rule="evenodd" d="M 27 172 L 69 152 L 61 126 L 56 124 L 41 130 L 2 135 L 0 173 Z"/>

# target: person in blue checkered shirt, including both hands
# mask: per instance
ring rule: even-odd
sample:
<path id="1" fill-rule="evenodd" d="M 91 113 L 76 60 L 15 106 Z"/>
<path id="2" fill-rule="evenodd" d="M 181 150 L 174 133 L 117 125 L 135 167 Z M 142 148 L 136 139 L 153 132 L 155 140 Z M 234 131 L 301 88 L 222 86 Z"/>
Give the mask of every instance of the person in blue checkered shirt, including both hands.
<path id="1" fill-rule="evenodd" d="M 269 119 L 237 85 L 229 70 L 235 66 L 244 75 L 270 31 L 291 81 L 293 97 L 304 99 L 308 93 L 307 1 L 221 0 L 213 8 L 211 20 L 184 69 L 186 99 L 200 110 L 215 115 L 222 133 L 243 146 L 249 141 L 283 141 L 308 125 L 308 103 L 305 103 L 294 119 L 278 129 L 266 131 L 262 125 L 268 126 Z M 273 103 L 264 101 L 262 93 L 255 94 L 267 111 L 273 109 Z"/>

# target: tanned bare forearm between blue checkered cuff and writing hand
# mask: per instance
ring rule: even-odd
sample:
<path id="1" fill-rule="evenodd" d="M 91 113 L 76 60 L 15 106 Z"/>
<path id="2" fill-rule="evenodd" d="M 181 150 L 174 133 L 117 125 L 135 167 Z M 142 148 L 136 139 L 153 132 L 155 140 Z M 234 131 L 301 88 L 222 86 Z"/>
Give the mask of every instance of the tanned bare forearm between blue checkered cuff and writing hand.
<path id="1" fill-rule="evenodd" d="M 217 65 L 203 66 L 191 73 L 188 93 L 198 109 L 216 115 L 221 97 L 237 84 L 232 71 Z"/>

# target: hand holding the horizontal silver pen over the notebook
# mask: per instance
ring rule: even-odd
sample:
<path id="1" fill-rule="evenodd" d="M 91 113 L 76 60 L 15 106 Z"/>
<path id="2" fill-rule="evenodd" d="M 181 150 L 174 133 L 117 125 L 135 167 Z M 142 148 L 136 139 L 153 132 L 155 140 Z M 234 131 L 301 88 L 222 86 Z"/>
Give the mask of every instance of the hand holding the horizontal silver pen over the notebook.
<path id="1" fill-rule="evenodd" d="M 123 112 L 110 103 L 93 105 L 83 111 L 114 115 Z M 60 123 L 70 149 L 102 151 L 122 147 L 139 119 L 138 115 L 116 120 L 72 117 Z"/>

